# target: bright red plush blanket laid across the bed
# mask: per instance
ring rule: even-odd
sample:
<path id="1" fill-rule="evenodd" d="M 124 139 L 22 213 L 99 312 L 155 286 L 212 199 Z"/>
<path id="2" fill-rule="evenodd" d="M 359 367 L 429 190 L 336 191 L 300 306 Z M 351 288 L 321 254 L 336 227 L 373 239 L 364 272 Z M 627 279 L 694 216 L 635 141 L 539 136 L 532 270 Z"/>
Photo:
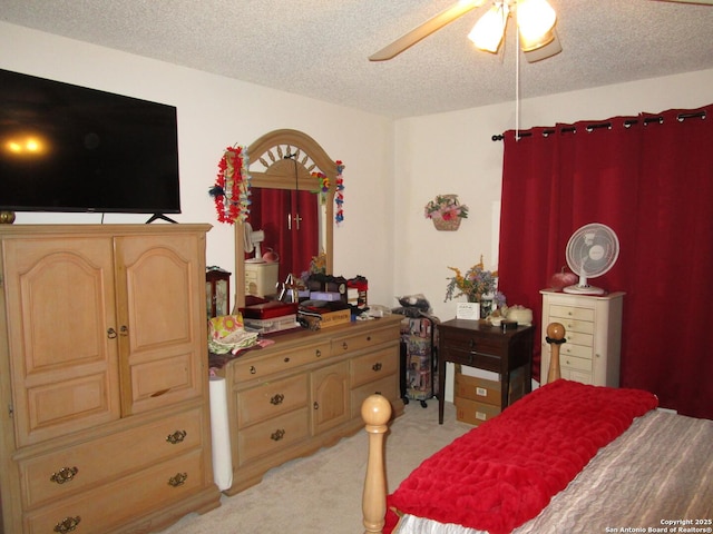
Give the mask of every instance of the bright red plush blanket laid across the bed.
<path id="1" fill-rule="evenodd" d="M 657 405 L 638 389 L 557 380 L 424 461 L 388 497 L 403 514 L 506 534 L 536 517 L 597 451 Z"/>

